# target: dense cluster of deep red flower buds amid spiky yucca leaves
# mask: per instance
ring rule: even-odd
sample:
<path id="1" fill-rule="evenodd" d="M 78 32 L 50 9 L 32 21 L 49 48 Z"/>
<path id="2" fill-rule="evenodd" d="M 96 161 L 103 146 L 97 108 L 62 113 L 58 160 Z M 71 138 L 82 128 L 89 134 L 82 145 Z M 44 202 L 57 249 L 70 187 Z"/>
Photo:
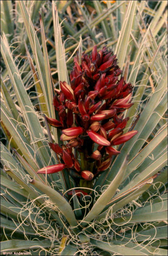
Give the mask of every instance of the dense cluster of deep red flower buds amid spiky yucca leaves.
<path id="1" fill-rule="evenodd" d="M 70 74 L 70 85 L 60 82 L 55 89 L 54 108 L 59 120 L 48 118 L 52 126 L 61 129 L 61 140 L 66 145 L 49 143 L 60 156 L 61 163 L 40 169 L 38 173 L 54 173 L 68 168 L 75 179 L 92 180 L 111 164 L 118 155 L 114 146 L 127 142 L 137 131 L 123 134 L 128 117 L 123 112 L 130 108 L 131 83 L 125 83 L 116 55 L 106 47 L 92 54 L 78 56 Z M 75 148 L 75 150 L 73 150 Z M 75 152 L 75 153 L 74 153 Z"/>

